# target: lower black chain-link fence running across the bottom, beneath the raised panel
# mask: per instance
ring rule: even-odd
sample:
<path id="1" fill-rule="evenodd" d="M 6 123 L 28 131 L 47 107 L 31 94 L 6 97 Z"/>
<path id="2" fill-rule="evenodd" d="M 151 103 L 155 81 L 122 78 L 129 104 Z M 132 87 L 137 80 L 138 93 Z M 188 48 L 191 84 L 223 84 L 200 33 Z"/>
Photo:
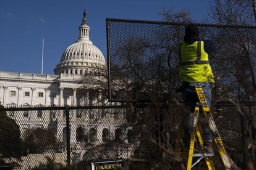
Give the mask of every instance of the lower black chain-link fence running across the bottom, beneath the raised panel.
<path id="1" fill-rule="evenodd" d="M 218 130 L 231 159 L 247 169 L 255 140 L 255 103 L 213 105 Z M 90 162 L 129 159 L 129 169 L 179 169 L 187 155 L 175 152 L 182 103 L 108 103 L 87 107 L 0 108 L 0 165 L 34 169 L 90 169 Z M 252 122 L 254 124 L 252 124 Z M 198 146 L 196 146 L 197 148 Z M 223 169 L 219 156 L 215 168 Z M 205 169 L 204 162 L 197 169 Z"/>

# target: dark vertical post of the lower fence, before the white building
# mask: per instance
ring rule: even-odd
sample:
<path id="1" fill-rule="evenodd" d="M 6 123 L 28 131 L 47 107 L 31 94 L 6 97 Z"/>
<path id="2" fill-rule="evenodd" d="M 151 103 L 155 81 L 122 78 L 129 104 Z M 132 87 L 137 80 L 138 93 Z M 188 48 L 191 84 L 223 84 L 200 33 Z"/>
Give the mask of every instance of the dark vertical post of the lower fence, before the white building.
<path id="1" fill-rule="evenodd" d="M 66 135 L 67 135 L 67 166 L 70 166 L 70 119 L 69 119 L 69 108 L 66 107 Z"/>

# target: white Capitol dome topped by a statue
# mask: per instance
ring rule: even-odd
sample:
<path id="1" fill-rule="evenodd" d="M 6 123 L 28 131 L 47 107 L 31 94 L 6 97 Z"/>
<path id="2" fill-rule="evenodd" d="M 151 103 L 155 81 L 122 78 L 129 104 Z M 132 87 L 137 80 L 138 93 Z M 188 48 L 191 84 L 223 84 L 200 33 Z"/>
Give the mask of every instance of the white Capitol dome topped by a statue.
<path id="1" fill-rule="evenodd" d="M 90 41 L 90 26 L 87 25 L 86 14 L 84 11 L 82 24 L 79 26 L 79 39 L 63 52 L 61 61 L 54 68 L 55 75 L 82 75 L 90 71 L 95 72 L 96 68 L 106 67 L 104 55 Z"/>

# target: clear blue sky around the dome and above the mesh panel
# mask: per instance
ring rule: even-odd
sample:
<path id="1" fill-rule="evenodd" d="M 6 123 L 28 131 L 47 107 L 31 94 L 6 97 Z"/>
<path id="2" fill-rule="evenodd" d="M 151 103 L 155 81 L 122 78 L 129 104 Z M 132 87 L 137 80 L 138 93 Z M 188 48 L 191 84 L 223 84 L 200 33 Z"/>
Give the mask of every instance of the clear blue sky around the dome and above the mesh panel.
<path id="1" fill-rule="evenodd" d="M 53 74 L 62 52 L 79 36 L 83 9 L 91 27 L 90 39 L 106 58 L 106 18 L 163 20 L 161 10 L 188 10 L 193 20 L 207 16 L 208 0 L 1 0 L 0 71 Z"/>

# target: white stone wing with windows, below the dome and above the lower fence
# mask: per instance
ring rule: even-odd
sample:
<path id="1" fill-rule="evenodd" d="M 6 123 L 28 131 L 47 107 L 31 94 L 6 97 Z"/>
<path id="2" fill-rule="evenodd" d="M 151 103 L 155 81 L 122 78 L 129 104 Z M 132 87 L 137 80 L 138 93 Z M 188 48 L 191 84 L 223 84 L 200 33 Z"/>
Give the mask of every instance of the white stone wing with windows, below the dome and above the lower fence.
<path id="1" fill-rule="evenodd" d="M 0 102 L 4 106 L 73 105 L 74 100 L 76 101 L 73 90 L 74 87 L 79 87 L 79 79 L 79 75 L 36 75 L 0 71 Z M 11 95 L 11 91 L 15 95 Z M 29 95 L 25 96 L 25 92 Z M 43 93 L 43 97 L 39 93 Z"/>

